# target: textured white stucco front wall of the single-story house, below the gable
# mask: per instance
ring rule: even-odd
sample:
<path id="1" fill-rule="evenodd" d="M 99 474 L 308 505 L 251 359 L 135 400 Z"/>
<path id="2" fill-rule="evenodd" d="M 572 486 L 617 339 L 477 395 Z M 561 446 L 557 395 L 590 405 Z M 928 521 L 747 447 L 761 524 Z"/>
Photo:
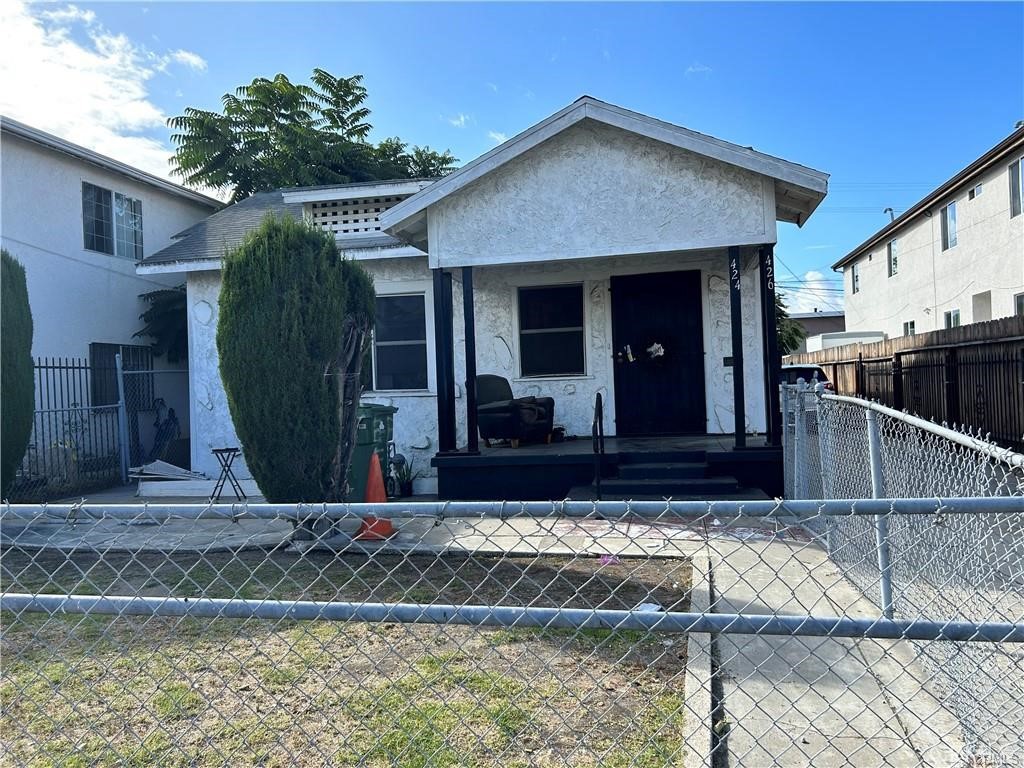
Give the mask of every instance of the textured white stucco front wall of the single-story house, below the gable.
<path id="1" fill-rule="evenodd" d="M 378 295 L 422 293 L 426 302 L 428 389 L 422 392 L 368 392 L 364 401 L 395 406 L 397 451 L 415 461 L 425 476 L 432 476 L 430 458 L 437 451 L 437 403 L 433 348 L 433 293 L 425 257 L 360 262 L 373 274 Z M 743 372 L 745 423 L 749 431 L 764 431 L 765 409 L 762 379 L 760 300 L 757 260 L 744 254 Z M 733 430 L 732 370 L 723 358 L 732 354 L 729 292 L 725 252 L 663 254 L 638 262 L 634 257 L 587 261 L 560 261 L 529 267 L 501 266 L 474 270 L 477 339 L 477 371 L 505 376 L 517 395 L 555 398 L 555 420 L 569 434 L 589 435 L 594 395 L 605 395 L 606 430 L 614 434 L 614 384 L 611 360 L 610 278 L 615 274 L 697 269 L 701 272 L 701 310 L 705 327 L 705 391 L 710 433 Z M 466 434 L 465 333 L 462 318 L 462 287 L 454 282 L 456 346 L 456 413 L 459 443 Z M 580 377 L 520 378 L 518 334 L 514 303 L 516 289 L 529 285 L 583 283 L 587 298 L 586 338 L 588 370 Z M 217 464 L 210 449 L 238 445 L 217 370 L 216 327 L 220 272 L 188 274 L 189 371 L 191 376 L 193 468 L 215 475 Z M 240 476 L 248 477 L 243 465 Z M 429 489 L 429 482 L 419 485 Z"/>

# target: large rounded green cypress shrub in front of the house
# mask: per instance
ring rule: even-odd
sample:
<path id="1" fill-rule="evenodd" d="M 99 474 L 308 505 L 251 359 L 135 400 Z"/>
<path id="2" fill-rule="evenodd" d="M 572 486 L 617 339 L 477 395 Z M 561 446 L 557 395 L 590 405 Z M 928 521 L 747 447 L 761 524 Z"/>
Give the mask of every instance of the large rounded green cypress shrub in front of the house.
<path id="1" fill-rule="evenodd" d="M 267 216 L 226 255 L 220 376 L 268 501 L 345 498 L 373 307 L 369 275 L 304 222 Z"/>

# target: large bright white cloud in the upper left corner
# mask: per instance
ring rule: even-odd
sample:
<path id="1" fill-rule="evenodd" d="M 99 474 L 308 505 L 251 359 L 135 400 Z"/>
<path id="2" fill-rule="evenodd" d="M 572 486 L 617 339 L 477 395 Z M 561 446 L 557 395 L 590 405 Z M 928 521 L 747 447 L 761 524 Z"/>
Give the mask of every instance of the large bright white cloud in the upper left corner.
<path id="1" fill-rule="evenodd" d="M 0 113 L 172 178 L 167 116 L 152 100 L 148 81 L 172 62 L 205 67 L 199 55 L 151 51 L 74 5 L 0 3 Z"/>

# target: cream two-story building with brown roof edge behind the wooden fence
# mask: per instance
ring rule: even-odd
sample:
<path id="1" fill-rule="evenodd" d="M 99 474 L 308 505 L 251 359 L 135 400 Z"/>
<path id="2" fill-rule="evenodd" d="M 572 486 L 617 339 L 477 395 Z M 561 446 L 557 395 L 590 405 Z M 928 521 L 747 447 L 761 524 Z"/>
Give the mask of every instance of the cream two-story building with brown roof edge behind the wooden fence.
<path id="1" fill-rule="evenodd" d="M 889 338 L 1024 314 L 1024 127 L 833 265 L 847 331 Z"/>

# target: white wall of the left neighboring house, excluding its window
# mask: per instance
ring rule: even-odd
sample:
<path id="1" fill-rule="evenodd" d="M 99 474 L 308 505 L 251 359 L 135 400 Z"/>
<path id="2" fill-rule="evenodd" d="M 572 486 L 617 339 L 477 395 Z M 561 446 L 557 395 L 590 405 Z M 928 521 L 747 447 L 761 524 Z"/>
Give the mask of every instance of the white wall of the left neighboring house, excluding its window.
<path id="1" fill-rule="evenodd" d="M 0 151 L 0 239 L 25 265 L 33 355 L 86 357 L 91 342 L 146 343 L 132 338 L 144 310 L 138 295 L 182 276 L 138 275 L 133 261 L 85 250 L 82 182 L 142 201 L 147 254 L 211 209 L 9 134 Z"/>

